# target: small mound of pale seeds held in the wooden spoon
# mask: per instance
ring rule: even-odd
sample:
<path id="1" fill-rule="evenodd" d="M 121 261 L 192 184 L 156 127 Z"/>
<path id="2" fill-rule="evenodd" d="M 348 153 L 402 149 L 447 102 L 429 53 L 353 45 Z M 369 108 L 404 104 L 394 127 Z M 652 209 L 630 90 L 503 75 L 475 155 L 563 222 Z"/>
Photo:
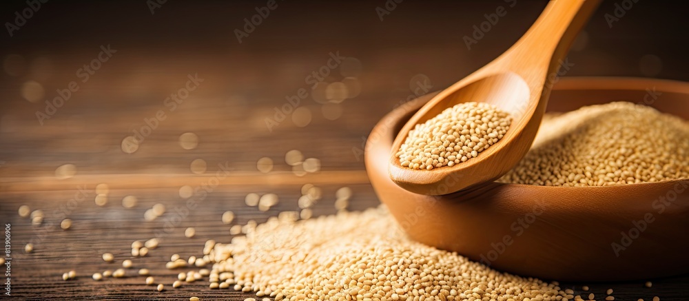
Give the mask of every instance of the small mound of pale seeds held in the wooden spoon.
<path id="1" fill-rule="evenodd" d="M 412 169 L 452 167 L 497 143 L 511 123 L 495 105 L 460 103 L 416 125 L 395 156 Z"/>

